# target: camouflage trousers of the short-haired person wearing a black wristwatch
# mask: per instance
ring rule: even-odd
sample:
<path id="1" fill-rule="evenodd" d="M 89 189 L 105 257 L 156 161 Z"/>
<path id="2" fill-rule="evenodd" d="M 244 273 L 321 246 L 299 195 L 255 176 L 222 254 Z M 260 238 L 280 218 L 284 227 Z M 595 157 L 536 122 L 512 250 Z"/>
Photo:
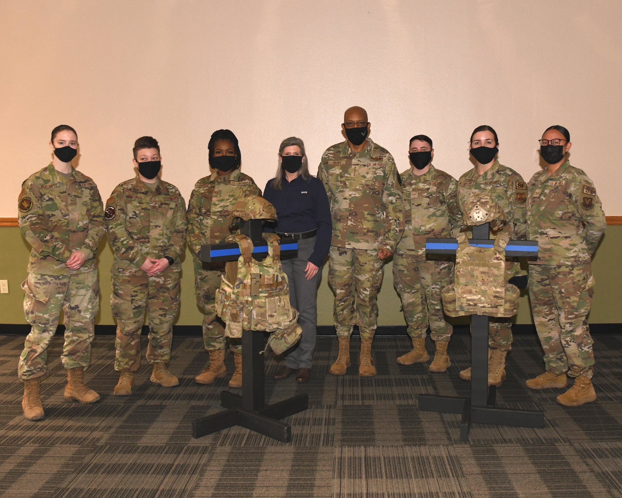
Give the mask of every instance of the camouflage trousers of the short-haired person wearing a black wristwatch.
<path id="1" fill-rule="evenodd" d="M 113 273 L 110 305 L 117 320 L 114 370 L 136 372 L 141 366 L 141 331 L 145 309 L 149 317 L 147 363 L 170 361 L 173 320 L 179 311 L 179 273 L 156 276 Z"/>

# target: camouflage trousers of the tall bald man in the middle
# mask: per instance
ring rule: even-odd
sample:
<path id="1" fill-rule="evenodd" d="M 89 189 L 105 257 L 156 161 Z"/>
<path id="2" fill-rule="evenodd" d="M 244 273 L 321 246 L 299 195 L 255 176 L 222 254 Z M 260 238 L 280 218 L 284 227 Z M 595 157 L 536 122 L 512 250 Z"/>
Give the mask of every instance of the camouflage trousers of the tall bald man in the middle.
<path id="1" fill-rule="evenodd" d="M 331 246 L 328 263 L 328 284 L 335 291 L 333 320 L 337 336 L 350 337 L 358 325 L 363 339 L 373 339 L 384 272 L 378 250 Z"/>

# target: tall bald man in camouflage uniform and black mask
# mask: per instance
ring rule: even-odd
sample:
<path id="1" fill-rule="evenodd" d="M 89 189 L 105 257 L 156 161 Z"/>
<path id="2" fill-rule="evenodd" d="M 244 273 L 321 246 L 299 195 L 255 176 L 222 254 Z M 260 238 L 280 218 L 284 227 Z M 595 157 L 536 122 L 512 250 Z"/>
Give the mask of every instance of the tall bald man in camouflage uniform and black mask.
<path id="1" fill-rule="evenodd" d="M 395 251 L 404 230 L 402 186 L 391 154 L 366 138 L 366 111 L 350 108 L 344 120 L 341 126 L 348 139 L 323 153 L 317 175 L 327 190 L 333 218 L 328 283 L 335 291 L 339 355 L 330 372 L 343 375 L 350 365 L 350 335 L 356 324 L 361 334 L 359 374 L 368 377 L 376 375 L 371 343 L 383 260 Z"/>

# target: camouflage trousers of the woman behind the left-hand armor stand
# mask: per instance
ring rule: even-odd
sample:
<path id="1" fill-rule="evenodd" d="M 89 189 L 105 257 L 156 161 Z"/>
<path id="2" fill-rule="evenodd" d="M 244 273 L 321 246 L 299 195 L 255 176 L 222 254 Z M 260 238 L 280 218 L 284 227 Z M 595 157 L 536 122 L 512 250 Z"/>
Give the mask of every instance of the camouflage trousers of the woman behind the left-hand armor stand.
<path id="1" fill-rule="evenodd" d="M 216 266 L 217 265 L 217 266 Z M 203 344 L 208 351 L 226 349 L 225 322 L 216 314 L 216 289 L 220 288 L 221 275 L 225 275 L 224 265 L 206 263 L 216 270 L 199 270 L 195 266 L 195 288 L 197 305 L 203 312 Z M 236 353 L 242 352 L 242 339 L 229 338 L 230 348 Z"/>

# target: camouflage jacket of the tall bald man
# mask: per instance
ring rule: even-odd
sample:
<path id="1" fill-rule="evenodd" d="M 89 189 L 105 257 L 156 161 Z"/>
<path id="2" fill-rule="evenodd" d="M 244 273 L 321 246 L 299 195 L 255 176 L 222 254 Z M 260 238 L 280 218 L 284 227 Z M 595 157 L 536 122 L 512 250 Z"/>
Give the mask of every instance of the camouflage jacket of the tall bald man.
<path id="1" fill-rule="evenodd" d="M 389 151 L 367 141 L 360 153 L 346 140 L 322 155 L 317 177 L 330 202 L 330 245 L 393 252 L 404 231 L 401 180 Z"/>

